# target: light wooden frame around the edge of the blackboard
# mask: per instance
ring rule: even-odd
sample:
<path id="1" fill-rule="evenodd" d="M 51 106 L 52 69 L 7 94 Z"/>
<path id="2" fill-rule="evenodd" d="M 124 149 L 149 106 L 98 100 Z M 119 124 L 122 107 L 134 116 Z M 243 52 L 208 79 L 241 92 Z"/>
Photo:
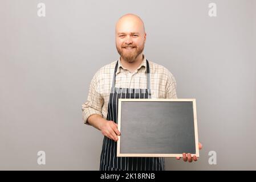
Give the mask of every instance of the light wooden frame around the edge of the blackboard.
<path id="1" fill-rule="evenodd" d="M 197 157 L 199 157 L 199 148 L 198 148 L 198 132 L 197 132 L 197 113 L 196 113 L 196 99 L 194 98 L 189 98 L 189 99 L 181 99 L 181 98 L 177 98 L 177 99 L 151 99 L 151 98 L 146 98 L 146 99 L 140 99 L 140 98 L 119 98 L 119 107 L 118 107 L 118 130 L 121 131 L 121 102 L 147 102 L 147 101 L 156 101 L 156 102 L 161 102 L 161 101 L 175 101 L 175 102 L 184 102 L 184 101 L 190 101 L 193 102 L 193 119 L 194 119 L 194 137 L 195 137 L 195 146 L 196 146 L 196 154 L 192 154 L 196 155 Z M 117 140 L 117 157 L 182 157 L 182 154 L 120 154 L 120 143 L 121 143 L 121 137 L 118 136 L 118 140 Z"/>

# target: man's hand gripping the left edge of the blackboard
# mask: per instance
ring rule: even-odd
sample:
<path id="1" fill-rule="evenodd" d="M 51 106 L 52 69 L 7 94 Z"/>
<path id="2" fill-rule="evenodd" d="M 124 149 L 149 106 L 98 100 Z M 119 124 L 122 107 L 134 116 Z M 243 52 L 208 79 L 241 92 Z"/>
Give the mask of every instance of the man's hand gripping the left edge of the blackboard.
<path id="1" fill-rule="evenodd" d="M 117 141 L 117 135 L 120 135 L 120 131 L 117 129 L 117 124 L 113 121 L 105 121 L 101 123 L 100 131 L 106 137 Z"/>

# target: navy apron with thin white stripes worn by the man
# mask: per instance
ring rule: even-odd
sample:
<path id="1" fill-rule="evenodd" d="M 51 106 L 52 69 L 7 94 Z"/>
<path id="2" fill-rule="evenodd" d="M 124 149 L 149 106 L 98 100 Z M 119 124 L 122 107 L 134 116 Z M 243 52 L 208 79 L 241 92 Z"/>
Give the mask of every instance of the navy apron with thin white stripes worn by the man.
<path id="1" fill-rule="evenodd" d="M 147 60 L 147 89 L 115 88 L 116 63 L 113 82 L 108 102 L 107 120 L 117 123 L 117 108 L 119 98 L 151 98 L 149 64 Z M 116 157 L 117 142 L 104 136 L 100 155 L 100 171 L 138 170 L 161 171 L 165 170 L 164 158 L 145 157 Z"/>

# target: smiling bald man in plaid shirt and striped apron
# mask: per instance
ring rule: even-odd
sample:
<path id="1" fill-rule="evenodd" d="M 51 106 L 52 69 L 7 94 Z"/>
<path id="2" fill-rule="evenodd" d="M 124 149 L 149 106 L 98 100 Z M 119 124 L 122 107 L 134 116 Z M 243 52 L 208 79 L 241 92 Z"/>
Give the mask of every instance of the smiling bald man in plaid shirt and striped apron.
<path id="1" fill-rule="evenodd" d="M 116 157 L 119 98 L 177 98 L 172 73 L 143 55 L 145 41 L 144 23 L 139 16 L 127 14 L 118 20 L 116 48 L 120 58 L 96 72 L 82 105 L 84 123 L 104 135 L 100 170 L 165 170 L 164 158 Z M 183 159 L 192 162 L 197 157 L 184 153 Z"/>

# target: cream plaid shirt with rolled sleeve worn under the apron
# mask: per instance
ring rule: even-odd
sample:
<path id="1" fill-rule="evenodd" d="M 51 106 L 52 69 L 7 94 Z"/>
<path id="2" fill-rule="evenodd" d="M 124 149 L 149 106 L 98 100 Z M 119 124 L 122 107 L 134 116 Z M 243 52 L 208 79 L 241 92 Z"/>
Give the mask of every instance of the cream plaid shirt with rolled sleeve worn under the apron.
<path id="1" fill-rule="evenodd" d="M 133 73 L 123 67 L 119 58 L 116 71 L 116 88 L 147 88 L 147 62 L 144 55 L 143 57 L 143 62 Z M 176 80 L 172 73 L 162 65 L 152 61 L 148 62 L 151 78 L 151 98 L 177 98 Z M 108 100 L 115 65 L 116 61 L 105 65 L 92 78 L 87 101 L 82 105 L 84 123 L 88 124 L 87 119 L 93 114 L 99 114 L 103 118 L 107 118 Z"/>

